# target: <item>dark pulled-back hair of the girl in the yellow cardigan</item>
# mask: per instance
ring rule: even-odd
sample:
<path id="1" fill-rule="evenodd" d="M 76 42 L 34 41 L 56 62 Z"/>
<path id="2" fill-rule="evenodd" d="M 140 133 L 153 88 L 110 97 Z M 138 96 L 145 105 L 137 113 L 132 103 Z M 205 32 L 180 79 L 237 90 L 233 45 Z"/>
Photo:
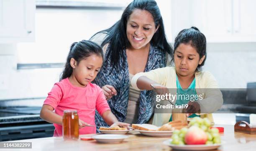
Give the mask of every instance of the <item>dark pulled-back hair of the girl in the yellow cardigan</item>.
<path id="1" fill-rule="evenodd" d="M 190 44 L 193 48 L 196 49 L 199 54 L 199 58 L 201 59 L 205 56 L 202 64 L 198 64 L 196 71 L 200 71 L 202 66 L 205 64 L 206 60 L 206 38 L 203 33 L 199 31 L 196 27 L 191 27 L 188 29 L 183 29 L 179 32 L 174 41 L 174 51 L 172 52 L 172 64 L 174 64 L 174 52 L 178 48 L 180 44 Z"/>

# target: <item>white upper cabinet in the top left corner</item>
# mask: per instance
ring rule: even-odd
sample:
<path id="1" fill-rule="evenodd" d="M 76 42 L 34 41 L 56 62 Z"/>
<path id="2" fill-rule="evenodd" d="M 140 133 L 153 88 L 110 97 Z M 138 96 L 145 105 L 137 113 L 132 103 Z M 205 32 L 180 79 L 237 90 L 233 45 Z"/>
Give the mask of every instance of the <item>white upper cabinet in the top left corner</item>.
<path id="1" fill-rule="evenodd" d="M 35 39 L 35 0 L 0 0 L 0 43 Z"/>

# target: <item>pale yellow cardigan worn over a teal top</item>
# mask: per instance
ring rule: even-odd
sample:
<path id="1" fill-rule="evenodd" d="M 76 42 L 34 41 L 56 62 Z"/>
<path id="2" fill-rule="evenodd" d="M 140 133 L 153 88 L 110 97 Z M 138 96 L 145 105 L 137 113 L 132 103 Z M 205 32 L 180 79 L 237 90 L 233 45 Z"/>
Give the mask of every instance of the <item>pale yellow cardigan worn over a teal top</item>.
<path id="1" fill-rule="evenodd" d="M 146 76 L 167 88 L 174 88 L 177 90 L 175 67 L 164 67 L 151 70 L 150 72 L 141 72 L 134 75 L 134 77 L 131 79 L 131 84 L 137 90 L 139 89 L 136 83 L 138 78 L 141 76 Z M 210 72 L 196 72 L 195 82 L 197 95 L 202 95 L 203 97 L 202 100 L 197 100 L 201 111 L 201 114 L 199 115 L 201 118 L 207 117 L 211 122 L 213 122 L 212 114 L 204 113 L 213 113 L 214 111 L 220 109 L 223 104 L 222 93 L 218 88 L 217 81 Z M 155 113 L 152 124 L 157 126 L 164 125 L 165 123 L 169 122 L 171 115 L 172 113 Z"/>

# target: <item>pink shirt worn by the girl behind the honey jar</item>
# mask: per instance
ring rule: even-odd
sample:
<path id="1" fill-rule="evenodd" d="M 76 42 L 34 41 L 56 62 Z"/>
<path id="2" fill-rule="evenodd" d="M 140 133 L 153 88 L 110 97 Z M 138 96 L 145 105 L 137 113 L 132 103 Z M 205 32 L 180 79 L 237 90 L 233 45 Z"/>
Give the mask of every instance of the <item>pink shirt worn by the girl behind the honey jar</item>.
<path id="1" fill-rule="evenodd" d="M 75 87 L 69 79 L 63 79 L 54 84 L 51 92 L 44 101 L 44 105 L 51 105 L 55 113 L 63 116 L 64 110 L 74 109 L 80 120 L 95 125 L 95 109 L 102 115 L 110 110 L 105 96 L 96 84 L 88 83 L 86 87 Z M 54 136 L 62 136 L 62 125 L 54 123 Z M 79 129 L 79 134 L 96 133 L 95 127 Z"/>

